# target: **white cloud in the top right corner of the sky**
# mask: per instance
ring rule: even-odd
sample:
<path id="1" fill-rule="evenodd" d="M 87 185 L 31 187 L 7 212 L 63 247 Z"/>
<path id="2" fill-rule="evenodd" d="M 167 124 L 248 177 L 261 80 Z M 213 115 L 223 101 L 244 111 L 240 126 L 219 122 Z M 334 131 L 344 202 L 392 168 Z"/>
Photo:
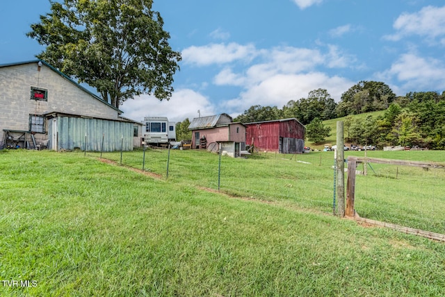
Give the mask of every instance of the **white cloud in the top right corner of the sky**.
<path id="1" fill-rule="evenodd" d="M 427 37 L 430 41 L 435 40 L 445 35 L 445 6 L 442 8 L 426 6 L 419 12 L 403 13 L 396 19 L 393 27 L 397 32 L 385 36 L 387 40 L 397 41 L 410 35 Z"/>

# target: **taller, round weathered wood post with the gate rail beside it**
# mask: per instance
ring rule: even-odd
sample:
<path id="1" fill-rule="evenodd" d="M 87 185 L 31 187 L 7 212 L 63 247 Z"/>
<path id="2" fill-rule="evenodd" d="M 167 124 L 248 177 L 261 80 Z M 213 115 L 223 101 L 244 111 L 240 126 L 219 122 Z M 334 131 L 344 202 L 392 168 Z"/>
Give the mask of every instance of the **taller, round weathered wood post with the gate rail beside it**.
<path id="1" fill-rule="evenodd" d="M 343 121 L 337 121 L 337 199 L 339 216 L 345 216 L 345 153 L 343 139 Z"/>

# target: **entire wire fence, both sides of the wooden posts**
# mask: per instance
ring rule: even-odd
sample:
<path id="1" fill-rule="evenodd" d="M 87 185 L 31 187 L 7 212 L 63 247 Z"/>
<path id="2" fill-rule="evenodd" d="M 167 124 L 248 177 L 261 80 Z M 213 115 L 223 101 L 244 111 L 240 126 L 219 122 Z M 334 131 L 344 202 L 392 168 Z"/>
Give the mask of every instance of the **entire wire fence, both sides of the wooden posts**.
<path id="1" fill-rule="evenodd" d="M 88 155 L 100 158 L 99 153 Z M 337 207 L 333 152 L 263 152 L 230 158 L 200 150 L 140 149 L 103 153 L 102 158 L 156 173 L 172 183 L 230 196 L 284 201 L 327 213 Z M 357 176 L 355 186 L 355 210 L 361 217 L 445 232 L 444 169 L 387 164 L 368 164 L 366 169 L 367 175 Z"/>

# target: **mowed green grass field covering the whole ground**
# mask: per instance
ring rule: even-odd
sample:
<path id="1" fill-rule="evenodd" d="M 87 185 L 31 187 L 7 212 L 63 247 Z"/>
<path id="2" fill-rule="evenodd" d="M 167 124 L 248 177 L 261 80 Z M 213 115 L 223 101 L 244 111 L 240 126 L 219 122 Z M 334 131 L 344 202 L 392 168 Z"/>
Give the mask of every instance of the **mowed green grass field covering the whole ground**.
<path id="1" fill-rule="evenodd" d="M 170 151 L 168 178 L 166 150 L 147 151 L 145 171 L 142 151 L 124 152 L 122 166 L 120 153 L 103 157 L 115 163 L 99 153 L 0 152 L 2 296 L 445 294 L 444 243 L 332 215 L 333 153 L 223 157 L 219 192 L 218 155 Z M 442 171 L 372 166 L 357 177 L 362 216 L 404 219 L 409 210 L 419 225 L 444 221 L 441 211 L 414 215 L 430 196 L 426 214 L 443 206 Z M 385 187 L 412 200 L 431 194 L 380 201 Z"/>

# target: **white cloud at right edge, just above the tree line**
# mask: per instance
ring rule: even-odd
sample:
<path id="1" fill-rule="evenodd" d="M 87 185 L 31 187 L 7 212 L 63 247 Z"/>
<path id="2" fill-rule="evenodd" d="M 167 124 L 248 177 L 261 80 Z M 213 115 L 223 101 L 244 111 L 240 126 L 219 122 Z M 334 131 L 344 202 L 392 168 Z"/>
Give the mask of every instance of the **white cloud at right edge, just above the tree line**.
<path id="1" fill-rule="evenodd" d="M 376 74 L 384 81 L 401 83 L 397 94 L 411 91 L 436 91 L 445 89 L 445 65 L 441 60 L 423 58 L 415 53 L 405 53 L 386 71 Z M 431 87 L 436 90 L 431 90 Z"/>

